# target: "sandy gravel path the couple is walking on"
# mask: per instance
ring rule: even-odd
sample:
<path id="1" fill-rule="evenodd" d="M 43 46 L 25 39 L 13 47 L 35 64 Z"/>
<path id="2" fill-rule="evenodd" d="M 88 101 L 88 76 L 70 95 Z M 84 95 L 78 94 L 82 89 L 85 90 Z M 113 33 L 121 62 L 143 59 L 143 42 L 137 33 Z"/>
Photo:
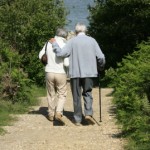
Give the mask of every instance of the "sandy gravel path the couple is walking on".
<path id="1" fill-rule="evenodd" d="M 64 109 L 67 126 L 50 122 L 46 118 L 46 98 L 41 105 L 28 114 L 18 115 L 13 126 L 0 136 L 0 150 L 123 150 L 123 139 L 118 138 L 119 129 L 111 112 L 111 89 L 102 89 L 102 122 L 100 126 L 75 126 L 70 119 L 73 115 L 72 96 L 68 97 Z M 93 89 L 94 118 L 99 122 L 99 89 Z"/>

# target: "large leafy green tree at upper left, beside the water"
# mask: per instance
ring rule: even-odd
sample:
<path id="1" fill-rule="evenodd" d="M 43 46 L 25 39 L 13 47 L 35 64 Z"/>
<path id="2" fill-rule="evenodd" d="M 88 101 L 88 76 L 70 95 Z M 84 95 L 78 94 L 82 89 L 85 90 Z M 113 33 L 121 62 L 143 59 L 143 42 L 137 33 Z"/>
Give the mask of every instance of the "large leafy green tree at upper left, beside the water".
<path id="1" fill-rule="evenodd" d="M 22 54 L 22 68 L 29 78 L 43 84 L 38 52 L 64 26 L 66 12 L 62 1 L 3 0 L 0 3 L 0 38 Z M 42 70 L 43 71 L 43 70 Z"/>

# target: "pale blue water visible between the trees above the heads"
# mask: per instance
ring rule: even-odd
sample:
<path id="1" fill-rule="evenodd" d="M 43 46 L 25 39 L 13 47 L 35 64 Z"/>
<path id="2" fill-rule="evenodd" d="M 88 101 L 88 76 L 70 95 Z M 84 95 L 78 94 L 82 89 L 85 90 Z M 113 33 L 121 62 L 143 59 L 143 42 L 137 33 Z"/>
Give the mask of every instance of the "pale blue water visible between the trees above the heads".
<path id="1" fill-rule="evenodd" d="M 70 12 L 67 16 L 68 25 L 66 28 L 68 30 L 74 31 L 74 26 L 77 22 L 85 23 L 88 26 L 88 5 L 94 5 L 94 0 L 64 0 L 64 3 Z"/>

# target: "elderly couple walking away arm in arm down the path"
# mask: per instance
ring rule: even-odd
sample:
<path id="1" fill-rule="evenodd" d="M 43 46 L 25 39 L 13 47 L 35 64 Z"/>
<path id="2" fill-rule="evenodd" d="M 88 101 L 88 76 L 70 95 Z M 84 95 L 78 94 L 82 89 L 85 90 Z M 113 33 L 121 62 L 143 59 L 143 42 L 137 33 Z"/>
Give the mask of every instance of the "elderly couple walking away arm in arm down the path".
<path id="1" fill-rule="evenodd" d="M 54 119 L 65 124 L 63 108 L 67 96 L 67 75 L 65 68 L 69 68 L 68 76 L 73 97 L 75 125 L 82 123 L 82 103 L 84 100 L 84 116 L 89 124 L 95 124 L 93 116 L 93 78 L 97 77 L 99 68 L 105 65 L 105 56 L 96 40 L 86 35 L 86 25 L 77 23 L 75 36 L 67 40 L 68 33 L 59 28 L 56 36 L 47 44 L 48 63 L 45 66 L 46 87 L 48 101 L 48 119 Z M 45 53 L 45 46 L 39 53 L 39 58 Z M 56 98 L 56 94 L 57 98 Z"/>

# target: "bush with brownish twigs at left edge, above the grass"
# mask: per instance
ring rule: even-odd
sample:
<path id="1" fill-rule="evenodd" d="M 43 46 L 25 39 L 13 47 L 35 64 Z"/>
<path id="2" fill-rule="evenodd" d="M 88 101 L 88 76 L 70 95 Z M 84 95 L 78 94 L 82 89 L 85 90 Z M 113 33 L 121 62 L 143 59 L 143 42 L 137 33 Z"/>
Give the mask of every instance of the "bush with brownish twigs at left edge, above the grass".
<path id="1" fill-rule="evenodd" d="M 0 41 L 0 98 L 12 103 L 29 102 L 30 80 L 20 67 L 21 57 Z"/>

